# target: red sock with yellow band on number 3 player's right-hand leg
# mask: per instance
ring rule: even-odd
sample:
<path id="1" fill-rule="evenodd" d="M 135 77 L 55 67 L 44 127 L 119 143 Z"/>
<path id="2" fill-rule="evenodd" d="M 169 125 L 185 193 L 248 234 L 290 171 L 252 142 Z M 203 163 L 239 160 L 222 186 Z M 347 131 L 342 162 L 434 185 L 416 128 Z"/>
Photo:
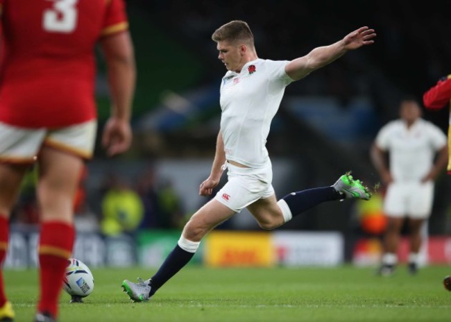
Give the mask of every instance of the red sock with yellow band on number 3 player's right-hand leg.
<path id="1" fill-rule="evenodd" d="M 49 312 L 54 317 L 58 315 L 58 298 L 74 239 L 74 226 L 59 221 L 42 223 L 38 250 L 40 300 L 37 310 L 39 312 Z"/>

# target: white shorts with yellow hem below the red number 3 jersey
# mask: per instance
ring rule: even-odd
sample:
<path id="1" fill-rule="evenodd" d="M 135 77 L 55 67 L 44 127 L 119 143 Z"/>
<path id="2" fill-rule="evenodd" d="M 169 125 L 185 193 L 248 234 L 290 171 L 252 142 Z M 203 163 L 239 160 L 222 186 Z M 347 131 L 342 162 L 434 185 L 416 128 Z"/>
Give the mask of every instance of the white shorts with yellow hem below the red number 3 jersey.
<path id="1" fill-rule="evenodd" d="M 20 128 L 0 122 L 0 162 L 34 162 L 43 144 L 90 159 L 96 130 L 96 120 L 52 130 Z"/>

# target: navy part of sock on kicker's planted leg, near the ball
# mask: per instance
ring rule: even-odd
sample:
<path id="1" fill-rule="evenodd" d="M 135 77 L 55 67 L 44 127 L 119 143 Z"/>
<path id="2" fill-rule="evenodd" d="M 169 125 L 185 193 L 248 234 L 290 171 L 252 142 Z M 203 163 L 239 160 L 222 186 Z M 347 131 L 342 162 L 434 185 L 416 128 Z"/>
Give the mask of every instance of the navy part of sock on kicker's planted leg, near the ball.
<path id="1" fill-rule="evenodd" d="M 157 273 L 151 278 L 151 296 L 157 291 L 162 285 L 167 282 L 172 276 L 176 275 L 183 266 L 188 264 L 192 259 L 194 253 L 190 253 L 180 248 L 180 246 L 174 247 L 174 249 L 169 253 L 164 260 L 163 264 L 158 269 Z"/>

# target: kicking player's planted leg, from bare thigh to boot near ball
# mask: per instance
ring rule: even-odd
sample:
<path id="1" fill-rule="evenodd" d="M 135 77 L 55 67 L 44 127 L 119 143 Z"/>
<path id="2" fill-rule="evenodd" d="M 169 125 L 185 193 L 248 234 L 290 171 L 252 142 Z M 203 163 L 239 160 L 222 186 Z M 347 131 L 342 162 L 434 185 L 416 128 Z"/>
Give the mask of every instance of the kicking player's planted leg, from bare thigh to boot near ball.
<path id="1" fill-rule="evenodd" d="M 201 244 L 201 239 L 210 230 L 234 214 L 233 210 L 214 199 L 203 205 L 189 219 L 185 228 L 183 228 L 178 244 L 152 278 L 148 280 L 138 278 L 137 283 L 130 280 L 122 282 L 122 288 L 130 296 L 130 299 L 135 302 L 149 300 L 165 282 L 176 275 L 192 259 L 199 244 Z"/>

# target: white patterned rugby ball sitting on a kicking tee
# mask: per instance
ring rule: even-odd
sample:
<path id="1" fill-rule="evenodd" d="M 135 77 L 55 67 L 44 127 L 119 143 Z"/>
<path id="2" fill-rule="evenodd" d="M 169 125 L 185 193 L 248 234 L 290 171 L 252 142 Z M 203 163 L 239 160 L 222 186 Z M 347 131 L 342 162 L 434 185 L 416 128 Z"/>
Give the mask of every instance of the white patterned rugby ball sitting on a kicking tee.
<path id="1" fill-rule="evenodd" d="M 62 287 L 67 294 L 84 298 L 94 290 L 94 276 L 85 263 L 76 258 L 69 258 Z"/>

